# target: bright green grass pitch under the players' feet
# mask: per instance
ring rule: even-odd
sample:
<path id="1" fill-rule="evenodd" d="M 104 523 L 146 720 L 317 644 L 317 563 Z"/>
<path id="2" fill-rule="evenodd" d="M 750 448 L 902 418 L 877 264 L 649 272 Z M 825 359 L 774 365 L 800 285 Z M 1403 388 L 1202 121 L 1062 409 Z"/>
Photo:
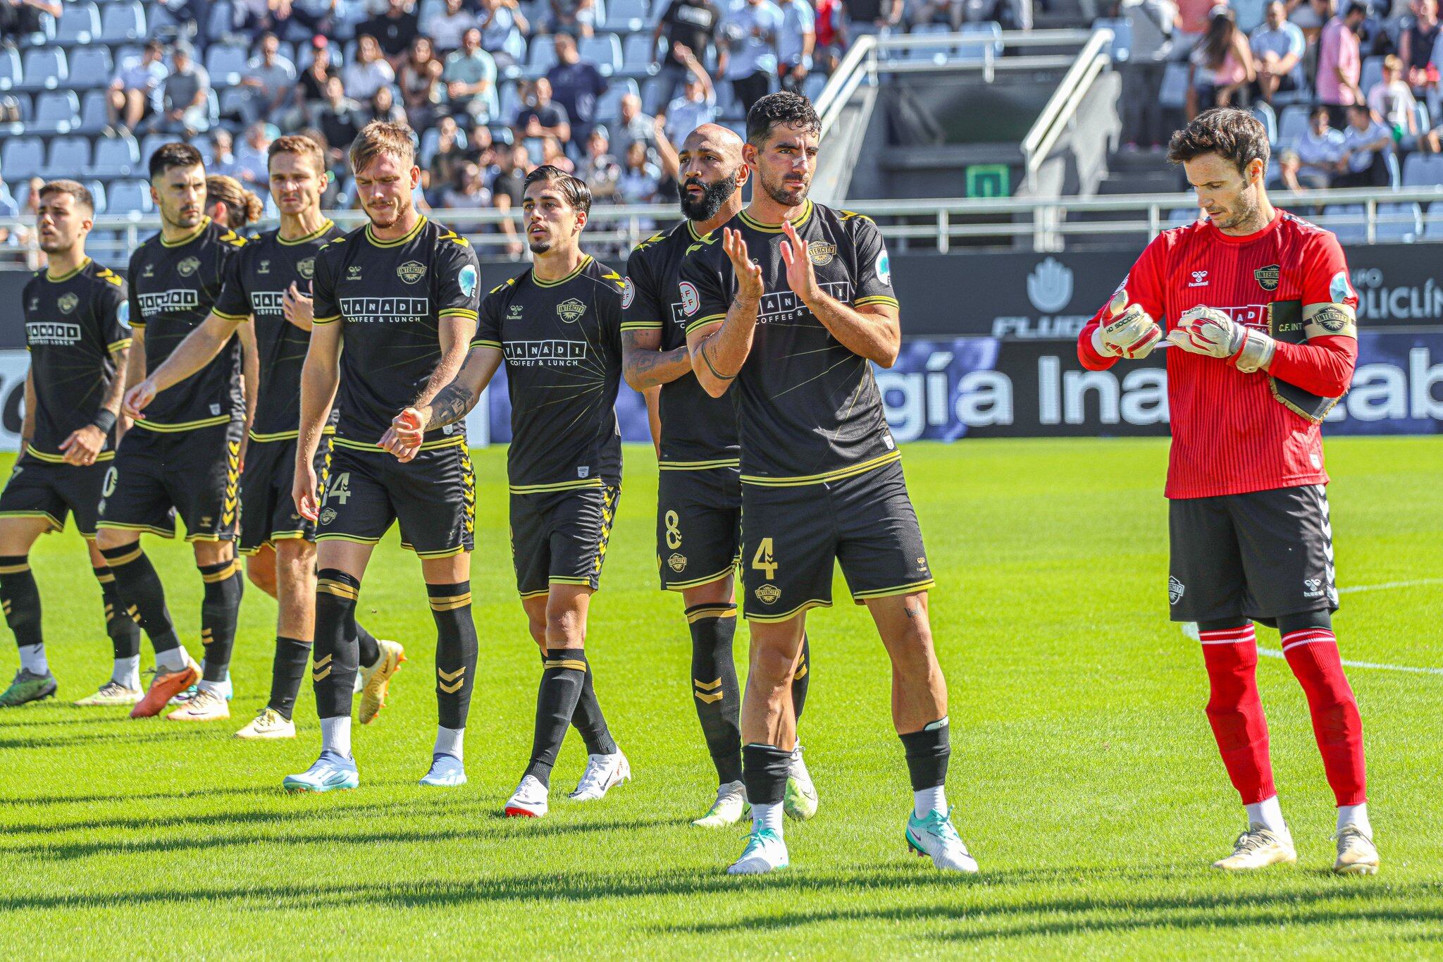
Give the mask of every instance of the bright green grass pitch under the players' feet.
<path id="1" fill-rule="evenodd" d="M 74 531 L 42 539 L 32 557 L 62 700 L 0 715 L 9 958 L 1443 953 L 1443 675 L 1349 671 L 1384 867 L 1336 878 L 1303 692 L 1284 662 L 1263 659 L 1299 864 L 1241 878 L 1208 868 L 1242 828 L 1241 809 L 1202 712 L 1198 646 L 1166 620 L 1165 440 L 906 450 L 939 583 L 948 795 L 983 867 L 974 880 L 906 851 L 887 663 L 840 575 L 837 606 L 810 620 L 802 740 L 821 811 L 788 825 L 789 871 L 723 874 L 742 829 L 687 825 L 713 772 L 680 599 L 657 590 L 655 462 L 641 447 L 626 453 L 587 640 L 636 780 L 600 803 L 567 803 L 584 760 L 573 734 L 551 815 L 501 818 L 530 750 L 538 674 L 511 574 L 504 457 L 476 457 L 481 663 L 470 783 L 457 790 L 416 785 L 434 734 L 434 635 L 418 565 L 394 534 L 361 612 L 411 661 L 377 724 L 358 727 L 361 790 L 325 796 L 280 790 L 316 756 L 309 684 L 297 740 L 231 737 L 270 684 L 268 599 L 250 590 L 241 612 L 231 723 L 71 708 L 107 676 L 110 648 Z M 1443 438 L 1333 440 L 1329 469 L 1343 656 L 1443 666 Z M 189 548 L 146 541 L 199 653 Z M 1394 583 L 1414 584 L 1375 587 Z M 1260 630 L 1260 645 L 1276 648 L 1276 633 Z M 745 671 L 745 642 L 737 653 Z M 6 632 L 0 669 L 14 663 Z"/>

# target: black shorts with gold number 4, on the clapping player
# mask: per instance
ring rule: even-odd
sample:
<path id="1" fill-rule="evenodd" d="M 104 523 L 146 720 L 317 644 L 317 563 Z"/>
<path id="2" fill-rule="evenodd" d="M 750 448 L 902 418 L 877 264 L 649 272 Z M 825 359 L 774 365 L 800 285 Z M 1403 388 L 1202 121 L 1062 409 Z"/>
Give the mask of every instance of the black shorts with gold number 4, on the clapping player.
<path id="1" fill-rule="evenodd" d="M 785 622 L 807 609 L 831 607 L 837 561 L 857 604 L 932 587 L 900 462 L 835 482 L 742 485 L 749 620 Z"/>

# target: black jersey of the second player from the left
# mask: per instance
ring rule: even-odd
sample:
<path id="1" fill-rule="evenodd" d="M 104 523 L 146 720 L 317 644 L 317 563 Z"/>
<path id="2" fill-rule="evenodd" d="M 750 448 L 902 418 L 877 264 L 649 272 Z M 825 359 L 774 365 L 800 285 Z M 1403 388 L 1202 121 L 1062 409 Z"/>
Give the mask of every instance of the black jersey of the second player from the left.
<path id="1" fill-rule="evenodd" d="M 146 374 L 211 316 L 231 258 L 245 238 L 203 218 L 179 241 L 156 234 L 130 255 L 130 325 L 144 332 Z M 137 427 L 188 431 L 245 417 L 241 342 L 232 337 L 196 374 L 156 395 Z"/>

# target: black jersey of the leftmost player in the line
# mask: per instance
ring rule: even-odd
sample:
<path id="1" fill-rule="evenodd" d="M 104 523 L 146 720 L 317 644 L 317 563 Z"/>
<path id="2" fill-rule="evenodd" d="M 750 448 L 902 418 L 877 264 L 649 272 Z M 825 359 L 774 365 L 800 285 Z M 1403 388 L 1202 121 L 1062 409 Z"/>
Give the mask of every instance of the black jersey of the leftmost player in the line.
<path id="1" fill-rule="evenodd" d="M 115 379 L 111 350 L 130 346 L 126 281 L 87 258 L 61 277 L 39 271 L 25 286 L 25 343 L 35 381 L 30 454 L 62 460 L 71 431 L 95 420 Z M 115 428 L 105 450 L 115 450 Z"/>

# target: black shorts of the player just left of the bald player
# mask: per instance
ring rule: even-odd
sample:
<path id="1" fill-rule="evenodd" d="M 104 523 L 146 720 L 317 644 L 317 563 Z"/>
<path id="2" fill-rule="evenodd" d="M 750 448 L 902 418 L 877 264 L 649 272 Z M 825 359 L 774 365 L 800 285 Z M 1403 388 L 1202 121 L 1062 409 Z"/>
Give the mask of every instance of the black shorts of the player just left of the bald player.
<path id="1" fill-rule="evenodd" d="M 545 594 L 553 584 L 602 587 L 606 541 L 620 496 L 616 482 L 511 495 L 511 561 L 522 599 Z"/>

